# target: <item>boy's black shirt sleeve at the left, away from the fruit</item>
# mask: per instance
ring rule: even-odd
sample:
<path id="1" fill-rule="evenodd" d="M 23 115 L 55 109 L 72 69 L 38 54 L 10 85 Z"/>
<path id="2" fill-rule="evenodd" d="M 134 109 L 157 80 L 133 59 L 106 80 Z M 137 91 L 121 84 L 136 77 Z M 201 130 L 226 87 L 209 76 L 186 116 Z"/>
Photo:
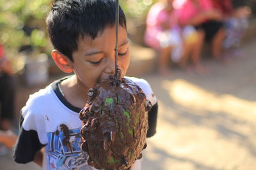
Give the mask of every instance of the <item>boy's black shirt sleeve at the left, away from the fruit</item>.
<path id="1" fill-rule="evenodd" d="M 20 117 L 19 138 L 13 147 L 13 159 L 20 164 L 26 164 L 34 160 L 35 154 L 44 145 L 39 141 L 38 134 L 34 130 L 26 131 L 22 127 L 24 118 Z"/>

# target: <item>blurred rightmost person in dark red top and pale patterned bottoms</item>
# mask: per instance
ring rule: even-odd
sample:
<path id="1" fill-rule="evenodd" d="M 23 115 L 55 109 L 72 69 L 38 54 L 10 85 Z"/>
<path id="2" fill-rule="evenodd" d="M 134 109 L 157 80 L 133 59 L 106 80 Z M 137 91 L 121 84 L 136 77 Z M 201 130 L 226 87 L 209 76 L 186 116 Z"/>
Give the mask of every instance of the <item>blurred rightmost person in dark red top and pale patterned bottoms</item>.
<path id="1" fill-rule="evenodd" d="M 241 39 L 246 31 L 251 13 L 250 7 L 246 6 L 248 1 L 242 0 L 212 0 L 217 10 L 220 10 L 225 23 L 225 39 L 223 41 L 223 52 L 225 59 L 243 55 L 239 49 Z"/>

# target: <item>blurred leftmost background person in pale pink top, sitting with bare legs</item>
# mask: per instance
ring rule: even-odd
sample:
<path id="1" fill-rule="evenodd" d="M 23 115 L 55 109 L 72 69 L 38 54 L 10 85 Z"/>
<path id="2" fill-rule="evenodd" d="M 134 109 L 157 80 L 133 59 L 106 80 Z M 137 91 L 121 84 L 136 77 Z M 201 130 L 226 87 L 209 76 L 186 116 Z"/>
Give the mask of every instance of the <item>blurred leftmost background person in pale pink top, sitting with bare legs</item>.
<path id="1" fill-rule="evenodd" d="M 147 15 L 145 44 L 159 52 L 158 70 L 170 74 L 169 59 L 186 67 L 193 53 L 197 34 L 193 27 L 180 27 L 179 11 L 173 8 L 173 0 L 162 0 L 154 4 Z M 193 55 L 191 55 L 193 56 Z"/>

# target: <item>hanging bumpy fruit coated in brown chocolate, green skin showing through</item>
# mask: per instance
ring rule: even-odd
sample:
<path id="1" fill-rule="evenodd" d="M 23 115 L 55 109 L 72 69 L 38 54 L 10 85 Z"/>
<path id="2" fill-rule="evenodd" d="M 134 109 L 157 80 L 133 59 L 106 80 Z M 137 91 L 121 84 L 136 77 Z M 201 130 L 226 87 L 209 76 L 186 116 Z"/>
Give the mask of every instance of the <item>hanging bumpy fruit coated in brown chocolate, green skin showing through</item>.
<path id="1" fill-rule="evenodd" d="M 97 169 L 129 169 L 142 157 L 151 103 L 127 78 L 109 77 L 88 90 L 89 100 L 79 113 L 83 121 L 81 149 Z"/>

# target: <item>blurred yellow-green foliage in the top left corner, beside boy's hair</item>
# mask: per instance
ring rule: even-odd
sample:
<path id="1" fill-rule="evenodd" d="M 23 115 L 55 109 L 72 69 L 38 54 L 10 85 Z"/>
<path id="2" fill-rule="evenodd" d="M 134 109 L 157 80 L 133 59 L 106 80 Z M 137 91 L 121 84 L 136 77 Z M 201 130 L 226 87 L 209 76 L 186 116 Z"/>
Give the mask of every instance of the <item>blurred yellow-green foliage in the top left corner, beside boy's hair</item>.
<path id="1" fill-rule="evenodd" d="M 45 16 L 51 0 L 1 0 L 0 41 L 12 50 L 47 44 Z M 40 48 L 43 49 L 43 48 Z"/>

